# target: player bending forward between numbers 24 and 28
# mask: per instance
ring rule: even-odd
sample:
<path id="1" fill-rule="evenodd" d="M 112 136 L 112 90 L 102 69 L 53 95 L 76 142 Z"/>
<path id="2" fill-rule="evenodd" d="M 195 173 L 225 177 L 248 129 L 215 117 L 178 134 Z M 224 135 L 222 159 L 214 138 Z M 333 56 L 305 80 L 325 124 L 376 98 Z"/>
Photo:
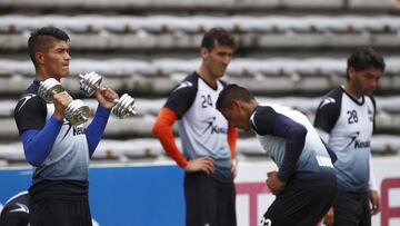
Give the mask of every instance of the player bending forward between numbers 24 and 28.
<path id="1" fill-rule="evenodd" d="M 267 178 L 267 186 L 277 197 L 260 225 L 317 225 L 336 196 L 336 156 L 308 118 L 291 108 L 258 104 L 237 85 L 221 91 L 217 109 L 233 126 L 252 129 L 278 165 L 279 170 L 269 171 Z"/>

